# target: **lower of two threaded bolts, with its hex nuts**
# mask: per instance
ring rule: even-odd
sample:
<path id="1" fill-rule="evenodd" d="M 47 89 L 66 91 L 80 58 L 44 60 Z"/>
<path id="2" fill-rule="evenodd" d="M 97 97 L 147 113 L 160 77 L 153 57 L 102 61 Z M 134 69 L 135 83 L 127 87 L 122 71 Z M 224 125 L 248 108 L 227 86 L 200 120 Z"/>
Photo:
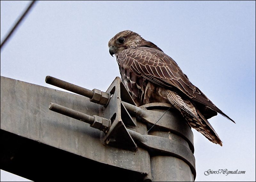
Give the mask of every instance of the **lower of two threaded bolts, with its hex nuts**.
<path id="1" fill-rule="evenodd" d="M 51 111 L 54 111 L 56 113 L 60 113 L 60 114 L 63 114 L 65 116 L 74 118 L 76 120 L 80 120 L 80 121 L 83 121 L 85 123 L 89 123 L 91 125 L 91 127 L 99 129 L 100 131 L 104 131 L 104 132 L 108 131 L 108 127 L 109 127 L 110 122 L 106 118 L 102 118 L 102 117 L 96 116 L 96 115 L 89 116 L 87 114 L 80 113 L 78 111 L 75 111 L 73 109 L 69 109 L 69 108 L 64 107 L 64 106 L 60 106 L 60 105 L 55 104 L 55 103 L 50 103 L 48 109 L 50 109 Z"/>

